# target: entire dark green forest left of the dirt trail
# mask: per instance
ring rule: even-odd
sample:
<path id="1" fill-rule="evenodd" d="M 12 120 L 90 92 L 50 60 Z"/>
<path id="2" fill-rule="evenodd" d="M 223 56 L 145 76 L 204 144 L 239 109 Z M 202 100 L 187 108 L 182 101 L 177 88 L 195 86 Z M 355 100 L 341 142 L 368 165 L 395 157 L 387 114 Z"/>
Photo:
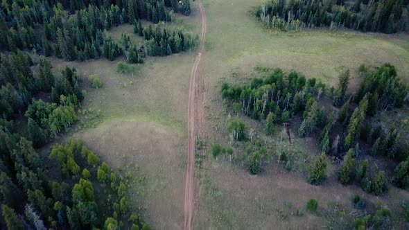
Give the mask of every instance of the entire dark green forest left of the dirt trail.
<path id="1" fill-rule="evenodd" d="M 81 140 L 36 152 L 78 121 L 85 99 L 78 71 L 55 73 L 47 57 L 82 62 L 125 55 L 188 51 L 198 37 L 170 30 L 162 21 L 189 16 L 189 1 L 2 1 L 0 6 L 0 203 L 2 229 L 150 229 L 130 213 L 130 172 L 116 174 Z M 141 24 L 150 21 L 155 26 Z M 161 23 L 159 23 L 161 22 Z M 133 24 L 143 44 L 106 31 Z M 101 87 L 94 76 L 93 87 Z M 47 95 L 44 97 L 44 95 Z M 45 99 L 44 99 L 45 98 Z M 50 98 L 50 99 L 47 99 Z M 26 120 L 24 127 L 15 121 Z M 51 163 L 47 166 L 46 163 Z M 103 191 L 103 193 L 101 192 Z"/>

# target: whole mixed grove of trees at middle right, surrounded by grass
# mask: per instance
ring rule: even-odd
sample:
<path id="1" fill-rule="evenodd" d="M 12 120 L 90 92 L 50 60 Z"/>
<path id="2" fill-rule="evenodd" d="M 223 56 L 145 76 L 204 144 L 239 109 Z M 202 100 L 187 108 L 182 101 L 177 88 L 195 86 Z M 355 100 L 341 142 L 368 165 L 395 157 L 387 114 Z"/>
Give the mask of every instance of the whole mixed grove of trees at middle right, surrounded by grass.
<path id="1" fill-rule="evenodd" d="M 227 133 L 232 142 L 247 141 L 246 153 L 237 160 L 247 165 L 251 174 L 258 174 L 263 166 L 272 162 L 270 152 L 277 151 L 278 162 L 284 162 L 289 170 L 292 162 L 288 159 L 288 151 L 270 147 L 266 139 L 261 141 L 260 133 L 248 127 L 242 115 L 265 124 L 265 129 L 259 131 L 267 135 L 267 140 L 279 138 L 282 141 L 284 134 L 291 143 L 292 132 L 299 138 L 316 136 L 317 145 L 324 154 L 311 162 L 307 179 L 311 184 L 324 182 L 326 154 L 329 154 L 343 159 L 338 167 L 341 184 L 358 183 L 367 193 L 381 195 L 388 190 L 387 174 L 384 170 L 378 170 L 376 175 L 369 173 L 370 162 L 360 156 L 367 153 L 400 159 L 391 181 L 400 188 L 408 186 L 408 155 L 406 146 L 400 141 L 399 130 L 395 126 L 381 125 L 374 117 L 378 118 L 385 110 L 402 107 L 407 100 L 408 87 L 391 64 L 383 64 L 374 71 L 361 66 L 363 82 L 352 94 L 348 91 L 349 70 L 343 71 L 338 76 L 336 88 L 329 90 L 315 78 L 306 80 L 295 71 L 284 73 L 281 69 L 262 67 L 255 71 L 263 77 L 237 86 L 227 82 L 221 85 L 221 97 L 227 109 L 238 116 L 227 125 Z M 321 106 L 322 98 L 331 98 L 334 107 Z M 290 130 L 290 125 L 295 127 Z M 279 130 L 283 132 L 279 134 Z"/>

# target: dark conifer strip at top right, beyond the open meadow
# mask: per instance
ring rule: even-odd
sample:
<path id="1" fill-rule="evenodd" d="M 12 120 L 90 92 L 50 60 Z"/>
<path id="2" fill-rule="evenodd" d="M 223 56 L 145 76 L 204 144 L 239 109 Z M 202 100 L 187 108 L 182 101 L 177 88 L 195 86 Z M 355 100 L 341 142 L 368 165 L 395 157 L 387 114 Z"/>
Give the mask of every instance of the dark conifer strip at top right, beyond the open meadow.
<path id="1" fill-rule="evenodd" d="M 397 33 L 406 29 L 403 16 L 407 1 L 361 1 L 350 6 L 338 0 L 269 0 L 257 9 L 256 17 L 270 28 L 282 30 L 313 26 L 345 27 L 353 30 Z"/>

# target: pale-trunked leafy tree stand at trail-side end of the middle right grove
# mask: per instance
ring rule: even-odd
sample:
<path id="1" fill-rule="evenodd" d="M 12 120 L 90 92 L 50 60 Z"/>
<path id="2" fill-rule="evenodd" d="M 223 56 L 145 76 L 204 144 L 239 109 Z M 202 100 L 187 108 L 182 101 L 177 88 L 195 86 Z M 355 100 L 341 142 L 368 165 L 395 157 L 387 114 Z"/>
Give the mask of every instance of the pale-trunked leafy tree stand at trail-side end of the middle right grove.
<path id="1" fill-rule="evenodd" d="M 315 117 L 322 112 L 313 98 L 313 95 L 320 96 L 325 89 L 322 82 L 315 78 L 307 81 L 295 71 L 287 75 L 281 69 L 265 70 L 262 74 L 266 75 L 265 78 L 254 78 L 250 84 L 243 86 L 232 87 L 223 83 L 223 99 L 236 103 L 235 110 L 243 115 L 256 120 L 268 118 L 268 132 L 272 131 L 272 124 L 286 122 L 302 112 L 306 112 L 304 117 L 308 120 L 308 129 L 322 123 Z"/>

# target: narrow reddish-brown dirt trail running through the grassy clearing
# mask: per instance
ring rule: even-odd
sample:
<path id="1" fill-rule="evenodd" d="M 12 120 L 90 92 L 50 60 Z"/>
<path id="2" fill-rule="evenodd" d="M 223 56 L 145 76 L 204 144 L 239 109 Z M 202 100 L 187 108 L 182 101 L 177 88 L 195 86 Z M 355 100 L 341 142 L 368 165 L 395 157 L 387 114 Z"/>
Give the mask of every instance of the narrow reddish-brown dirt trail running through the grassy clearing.
<path id="1" fill-rule="evenodd" d="M 200 21 L 202 24 L 202 35 L 195 62 L 191 71 L 189 82 L 189 105 L 188 105 L 188 127 L 189 145 L 187 152 L 186 186 L 184 191 L 184 229 L 193 229 L 193 216 L 195 214 L 195 140 L 196 136 L 204 135 L 204 80 L 203 75 L 198 73 L 200 57 L 206 36 L 206 15 L 202 0 L 199 0 Z"/>

